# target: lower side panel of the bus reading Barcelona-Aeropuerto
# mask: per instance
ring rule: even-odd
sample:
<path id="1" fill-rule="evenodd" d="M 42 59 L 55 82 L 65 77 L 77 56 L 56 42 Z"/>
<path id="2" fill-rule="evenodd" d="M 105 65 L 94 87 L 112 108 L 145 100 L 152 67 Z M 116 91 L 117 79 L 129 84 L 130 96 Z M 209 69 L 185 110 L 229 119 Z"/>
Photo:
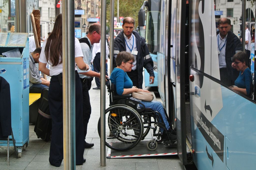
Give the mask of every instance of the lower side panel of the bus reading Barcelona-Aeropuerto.
<path id="1" fill-rule="evenodd" d="M 191 69 L 191 74 L 196 75 L 195 81 L 200 78 L 195 70 Z M 197 168 L 254 169 L 256 104 L 206 76 L 201 96 L 217 103 L 209 104 L 207 99 L 200 103 L 201 97 L 195 91 L 198 86 L 194 82 L 190 85 L 193 159 Z M 216 107 L 219 103 L 220 110 Z"/>

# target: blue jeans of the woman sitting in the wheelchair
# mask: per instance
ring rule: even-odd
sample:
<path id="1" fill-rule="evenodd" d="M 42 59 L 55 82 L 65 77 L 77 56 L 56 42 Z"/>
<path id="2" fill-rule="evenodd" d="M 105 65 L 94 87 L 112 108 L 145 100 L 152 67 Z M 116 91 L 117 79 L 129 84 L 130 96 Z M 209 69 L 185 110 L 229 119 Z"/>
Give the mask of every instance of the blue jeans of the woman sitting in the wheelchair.
<path id="1" fill-rule="evenodd" d="M 166 129 L 168 130 L 170 128 L 170 125 L 169 125 L 167 118 L 165 116 L 165 113 L 164 113 L 164 107 L 161 102 L 159 102 L 159 101 L 151 101 L 151 102 L 141 101 L 141 103 L 145 105 L 145 108 L 150 108 L 153 111 L 159 112 L 163 118 Z M 158 117 L 158 116 L 156 116 L 156 117 Z M 158 117 L 158 122 L 162 123 L 162 120 L 159 117 Z M 159 128 L 160 128 L 160 131 L 163 133 L 164 129 L 162 127 L 159 127 Z"/>

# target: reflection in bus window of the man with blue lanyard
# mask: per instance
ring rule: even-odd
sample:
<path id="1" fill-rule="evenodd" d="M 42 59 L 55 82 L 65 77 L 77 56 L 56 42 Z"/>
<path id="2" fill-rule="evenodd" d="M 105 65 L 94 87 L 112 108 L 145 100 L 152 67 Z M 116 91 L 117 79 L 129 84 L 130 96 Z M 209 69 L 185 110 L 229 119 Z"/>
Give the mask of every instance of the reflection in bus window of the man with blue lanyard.
<path id="1" fill-rule="evenodd" d="M 231 21 L 228 18 L 220 18 L 217 31 L 217 49 L 219 57 L 220 81 L 231 86 L 234 85 L 239 72 L 232 68 L 232 57 L 242 50 L 239 38 L 230 31 Z"/>

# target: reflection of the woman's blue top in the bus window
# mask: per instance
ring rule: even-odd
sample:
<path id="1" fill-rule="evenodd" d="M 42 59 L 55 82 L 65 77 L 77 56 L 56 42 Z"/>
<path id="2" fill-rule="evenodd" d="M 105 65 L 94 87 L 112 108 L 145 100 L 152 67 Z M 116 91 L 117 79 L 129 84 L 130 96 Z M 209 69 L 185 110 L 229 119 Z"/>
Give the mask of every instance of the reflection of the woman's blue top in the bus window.
<path id="1" fill-rule="evenodd" d="M 237 80 L 235 81 L 235 85 L 239 88 L 246 88 L 247 95 L 250 94 L 250 87 L 252 84 L 252 72 L 249 68 L 246 68 L 243 71 L 243 74 L 240 71 L 239 76 L 237 77 Z"/>

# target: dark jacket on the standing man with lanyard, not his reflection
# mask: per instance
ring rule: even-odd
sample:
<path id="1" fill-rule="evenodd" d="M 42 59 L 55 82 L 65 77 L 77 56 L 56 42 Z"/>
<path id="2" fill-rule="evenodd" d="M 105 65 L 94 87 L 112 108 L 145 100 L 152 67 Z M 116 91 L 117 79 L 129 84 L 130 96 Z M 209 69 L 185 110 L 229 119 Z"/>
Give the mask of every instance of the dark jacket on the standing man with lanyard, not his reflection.
<path id="1" fill-rule="evenodd" d="M 137 47 L 137 71 L 138 71 L 138 88 L 142 88 L 143 83 L 143 67 L 147 70 L 150 76 L 155 77 L 154 71 L 153 71 L 153 60 L 149 54 L 146 40 L 140 36 L 140 34 L 136 31 L 132 32 L 135 36 L 136 40 L 136 47 Z M 125 41 L 124 41 L 124 32 L 120 32 L 118 36 L 116 36 L 114 40 L 114 61 L 113 61 L 113 67 L 116 67 L 116 57 L 118 53 L 121 51 L 126 51 Z"/>

